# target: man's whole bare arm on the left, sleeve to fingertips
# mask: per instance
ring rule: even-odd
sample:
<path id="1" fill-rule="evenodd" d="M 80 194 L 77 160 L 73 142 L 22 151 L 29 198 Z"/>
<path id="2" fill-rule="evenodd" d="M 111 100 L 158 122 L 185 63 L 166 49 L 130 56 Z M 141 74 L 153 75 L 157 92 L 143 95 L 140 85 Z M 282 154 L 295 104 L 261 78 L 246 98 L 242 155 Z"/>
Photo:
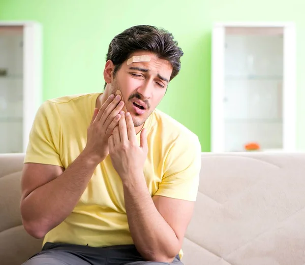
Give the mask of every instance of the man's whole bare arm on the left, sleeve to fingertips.
<path id="1" fill-rule="evenodd" d="M 58 165 L 25 163 L 20 210 L 23 226 L 29 235 L 43 238 L 71 214 L 97 165 L 108 155 L 108 138 L 117 126 L 121 117 L 119 112 L 124 107 L 124 102 L 120 101 L 121 96 L 114 99 L 111 95 L 100 110 L 95 109 L 87 129 L 86 147 L 67 169 Z M 39 115 L 36 122 L 46 117 L 42 116 L 45 114 L 41 109 Z M 43 125 L 40 129 L 47 134 L 47 126 Z M 40 137 L 34 130 L 32 138 Z M 44 150 L 46 139 L 39 140 L 42 144 L 39 153 Z M 49 152 L 53 152 L 53 157 L 58 155 L 55 150 Z"/>

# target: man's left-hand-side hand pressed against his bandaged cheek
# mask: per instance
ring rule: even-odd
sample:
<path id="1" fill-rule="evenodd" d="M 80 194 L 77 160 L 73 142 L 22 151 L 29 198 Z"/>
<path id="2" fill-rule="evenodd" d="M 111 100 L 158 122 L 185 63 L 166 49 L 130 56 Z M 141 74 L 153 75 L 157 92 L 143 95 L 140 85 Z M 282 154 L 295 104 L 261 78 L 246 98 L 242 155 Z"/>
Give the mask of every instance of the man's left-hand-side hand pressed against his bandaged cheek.
<path id="1" fill-rule="evenodd" d="M 87 144 L 84 153 L 93 158 L 97 164 L 102 162 L 109 154 L 108 138 L 117 126 L 124 102 L 121 96 L 111 94 L 99 109 L 94 110 L 92 121 L 87 129 Z"/>

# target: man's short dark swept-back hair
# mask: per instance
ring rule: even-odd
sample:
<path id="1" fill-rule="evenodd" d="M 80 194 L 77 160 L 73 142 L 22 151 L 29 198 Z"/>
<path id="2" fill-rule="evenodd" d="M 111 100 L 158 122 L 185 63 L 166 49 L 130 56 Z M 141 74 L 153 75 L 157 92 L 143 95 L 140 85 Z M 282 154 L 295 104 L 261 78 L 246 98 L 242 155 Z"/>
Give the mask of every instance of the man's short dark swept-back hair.
<path id="1" fill-rule="evenodd" d="M 149 25 L 133 26 L 113 38 L 109 44 L 106 61 L 111 60 L 113 62 L 113 75 L 115 75 L 121 64 L 132 53 L 140 50 L 150 51 L 159 58 L 170 62 L 173 68 L 170 77 L 170 80 L 172 80 L 180 71 L 180 57 L 183 55 L 177 44 L 173 35 L 163 28 Z"/>

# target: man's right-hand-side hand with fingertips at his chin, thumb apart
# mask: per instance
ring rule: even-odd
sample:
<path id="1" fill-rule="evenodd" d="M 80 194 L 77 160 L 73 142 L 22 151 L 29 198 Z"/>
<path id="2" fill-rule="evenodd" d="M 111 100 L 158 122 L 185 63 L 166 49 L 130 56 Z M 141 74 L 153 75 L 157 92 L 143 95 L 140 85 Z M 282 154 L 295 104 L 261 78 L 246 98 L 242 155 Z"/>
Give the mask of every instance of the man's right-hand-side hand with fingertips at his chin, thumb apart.
<path id="1" fill-rule="evenodd" d="M 144 162 L 147 157 L 148 147 L 146 131 L 143 129 L 140 135 L 140 146 L 138 145 L 135 127 L 129 112 L 123 113 L 109 137 L 109 154 L 112 165 L 122 181 L 129 177 L 143 174 Z"/>

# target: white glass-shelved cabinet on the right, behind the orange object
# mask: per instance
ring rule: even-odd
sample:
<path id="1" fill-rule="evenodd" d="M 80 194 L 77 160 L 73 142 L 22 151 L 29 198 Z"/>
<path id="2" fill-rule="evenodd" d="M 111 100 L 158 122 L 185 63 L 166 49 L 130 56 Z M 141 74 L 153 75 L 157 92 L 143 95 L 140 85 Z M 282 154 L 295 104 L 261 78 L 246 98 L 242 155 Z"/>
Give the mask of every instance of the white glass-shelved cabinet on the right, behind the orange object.
<path id="1" fill-rule="evenodd" d="M 217 23 L 211 79 L 212 152 L 295 150 L 292 23 Z"/>

